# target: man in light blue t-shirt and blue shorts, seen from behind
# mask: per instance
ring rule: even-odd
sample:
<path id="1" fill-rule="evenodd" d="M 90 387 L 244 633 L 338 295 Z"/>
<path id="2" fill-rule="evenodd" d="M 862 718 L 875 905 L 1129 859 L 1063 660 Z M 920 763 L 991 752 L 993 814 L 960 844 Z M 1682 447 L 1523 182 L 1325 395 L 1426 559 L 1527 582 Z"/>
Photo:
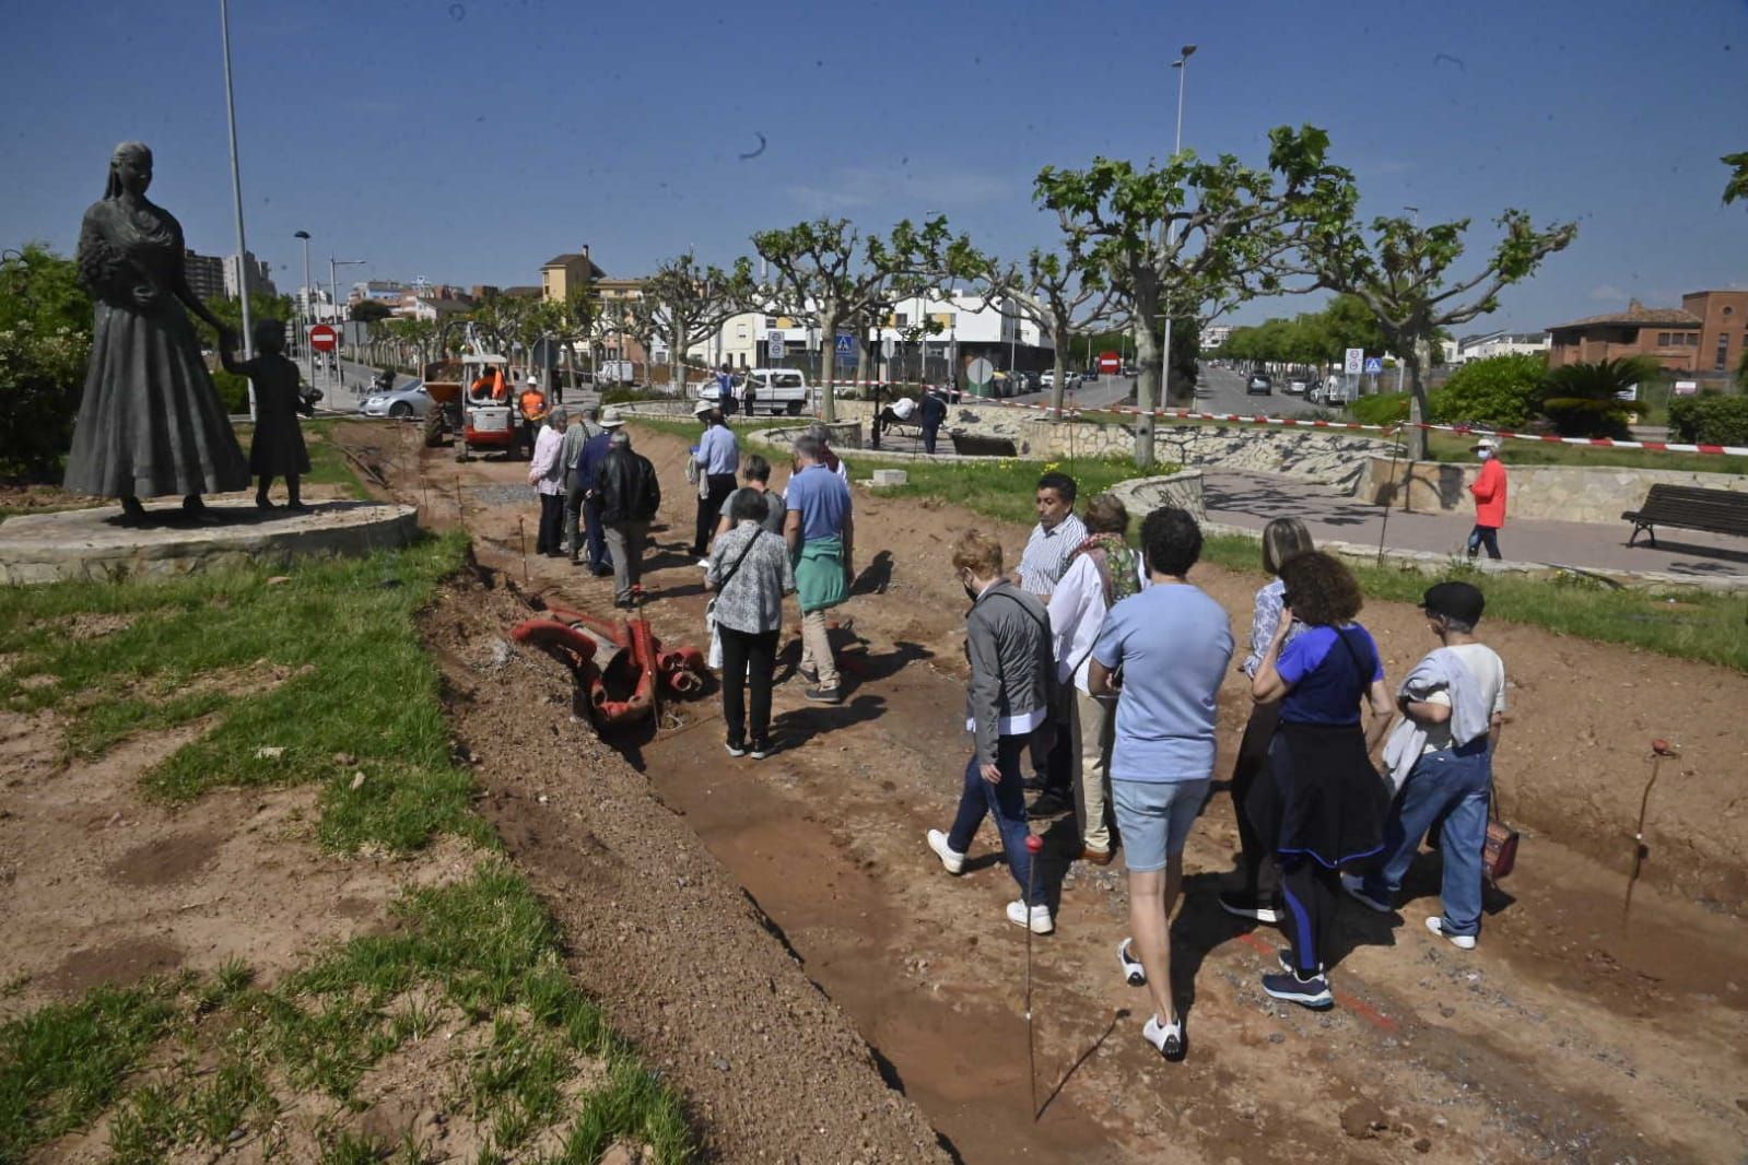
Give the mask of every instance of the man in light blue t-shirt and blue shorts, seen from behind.
<path id="1" fill-rule="evenodd" d="M 1148 587 L 1110 608 L 1087 669 L 1092 695 L 1119 692 L 1110 789 L 1129 866 L 1133 938 L 1117 947 L 1117 959 L 1131 985 L 1152 990 L 1154 1018 L 1141 1036 L 1166 1058 L 1185 1046 L 1171 997 L 1171 906 L 1183 879 L 1183 844 L 1208 800 L 1215 697 L 1232 662 L 1225 608 L 1185 582 L 1201 541 L 1185 510 L 1147 515 Z M 1119 669 L 1122 686 L 1115 688 Z"/>

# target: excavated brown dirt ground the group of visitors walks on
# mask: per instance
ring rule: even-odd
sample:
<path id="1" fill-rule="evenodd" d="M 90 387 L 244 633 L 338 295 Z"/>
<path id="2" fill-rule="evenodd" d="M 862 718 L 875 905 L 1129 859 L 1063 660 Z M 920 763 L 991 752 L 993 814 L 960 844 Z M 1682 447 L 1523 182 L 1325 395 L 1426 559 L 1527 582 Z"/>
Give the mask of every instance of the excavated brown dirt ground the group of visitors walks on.
<path id="1" fill-rule="evenodd" d="M 395 437 L 381 433 L 358 426 L 355 440 L 379 447 L 376 459 L 399 470 L 390 472 L 397 491 L 420 501 L 428 520 L 454 522 L 460 503 L 481 559 L 517 583 L 526 578 L 535 601 L 605 610 L 608 583 L 556 559 L 523 559 L 517 524 L 531 547 L 535 514 L 531 494 L 521 493 L 524 465 L 458 466 L 447 451 L 414 461 L 381 452 Z M 696 641 L 703 589 L 683 545 L 692 517 L 683 445 L 654 433 L 640 433 L 638 445 L 669 493 L 668 529 L 657 531 L 647 559 L 649 618 L 668 641 Z M 1033 1123 L 1024 936 L 1002 917 L 1012 884 L 993 858 L 993 831 L 958 880 L 921 840 L 951 814 L 967 753 L 963 596 L 944 548 L 965 526 L 991 524 L 864 491 L 857 519 L 858 597 L 839 611 L 843 706 L 801 699 L 790 638 L 776 697 L 781 751 L 773 758 L 727 758 L 708 699 L 676 704 L 659 730 L 614 742 L 678 814 L 640 826 L 647 859 L 638 879 L 629 877 L 638 851 L 628 842 L 610 845 L 612 861 L 596 858 L 593 805 L 638 800 L 612 756 L 577 746 L 570 767 L 547 762 L 551 718 L 517 727 L 507 706 L 470 723 L 467 699 L 456 702 L 458 727 L 484 760 L 493 816 L 572 927 L 584 982 L 659 1060 L 675 1064 L 718 1148 L 774 1144 L 759 1134 L 767 1121 L 792 1125 L 783 1123 L 785 1106 L 816 1111 L 823 1100 L 902 1118 L 883 1118 L 884 1139 L 871 1142 L 867 1160 L 902 1158 L 897 1130 L 909 1128 L 909 1106 L 862 1071 L 872 1057 L 884 1083 L 919 1106 L 967 1162 L 1741 1158 L 1748 678 L 1530 627 L 1486 627 L 1512 676 L 1514 723 L 1496 769 L 1503 809 L 1524 828 L 1519 870 L 1491 896 L 1481 947 L 1468 954 L 1421 926 L 1437 910 L 1432 865 L 1411 877 L 1400 920 L 1344 912 L 1334 966 L 1341 1006 L 1325 1015 L 1269 1001 L 1257 978 L 1280 938 L 1213 903 L 1236 851 L 1231 800 L 1217 784 L 1190 840 L 1187 901 L 1173 927 L 1190 1039 L 1180 1065 L 1162 1064 L 1136 1037 L 1147 1004 L 1113 966 L 1126 933 L 1120 873 L 1070 866 L 1066 826 L 1042 823 L 1044 870 L 1059 910 L 1056 934 L 1035 943 L 1037 1086 L 1047 1102 Z M 1024 531 L 1000 533 L 1017 552 Z M 1259 578 L 1197 568 L 1192 580 L 1225 604 L 1243 636 Z M 1430 646 L 1412 608 L 1377 603 L 1362 618 L 1391 676 Z M 482 634 L 488 629 L 454 632 L 463 662 L 477 657 L 460 645 Z M 453 660 L 446 665 L 458 674 Z M 535 674 L 551 679 L 554 669 Z M 1245 709 L 1234 678 L 1222 695 L 1218 774 L 1229 770 Z M 1622 893 L 1652 737 L 1676 742 L 1682 760 L 1664 765 L 1655 788 L 1650 859 L 1626 920 Z M 530 805 L 528 791 L 544 782 L 563 802 Z M 696 858 L 690 837 L 713 863 Z M 724 1086 L 699 1085 L 713 1081 L 713 1064 L 696 1034 L 694 1008 L 703 1004 L 690 994 L 697 952 L 711 952 L 713 976 L 741 983 L 766 973 L 755 968 L 771 966 L 778 950 L 748 948 L 739 938 L 715 947 L 718 903 L 736 898 L 734 884 L 823 992 L 801 999 L 832 1032 L 787 1055 L 752 1057 L 762 1050 L 760 1025 L 802 1003 L 780 1008 L 767 999 L 790 990 L 781 976 L 769 992 L 708 996 L 729 1050 L 729 1067 L 717 1074 L 732 1081 L 734 1097 L 760 1106 L 746 1121 L 725 1107 L 739 1100 Z M 652 910 L 675 922 L 647 931 Z M 666 964 L 647 966 L 652 945 L 668 950 Z M 839 1013 L 853 1032 L 839 1029 Z M 857 1079 L 867 1093 L 855 1093 Z M 930 1139 L 918 1141 L 918 1151 L 928 1148 Z M 851 1141 L 827 1141 L 825 1153 L 822 1142 L 813 1153 L 781 1144 L 808 1160 L 862 1155 Z"/>

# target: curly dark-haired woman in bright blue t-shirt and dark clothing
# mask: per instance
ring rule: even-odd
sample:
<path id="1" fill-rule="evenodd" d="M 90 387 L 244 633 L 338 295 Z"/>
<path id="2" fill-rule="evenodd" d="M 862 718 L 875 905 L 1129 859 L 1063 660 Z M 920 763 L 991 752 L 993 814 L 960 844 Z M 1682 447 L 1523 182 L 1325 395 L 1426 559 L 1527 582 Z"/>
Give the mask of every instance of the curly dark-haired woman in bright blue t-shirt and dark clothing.
<path id="1" fill-rule="evenodd" d="M 1390 728 L 1393 700 L 1377 645 L 1353 622 L 1365 603 L 1353 573 L 1313 550 L 1283 562 L 1281 582 L 1281 625 L 1252 681 L 1259 702 L 1280 700 L 1281 720 L 1269 779 L 1257 781 L 1246 809 L 1280 856 L 1292 961 L 1283 955 L 1281 973 L 1264 975 L 1262 989 L 1330 1008 L 1323 933 L 1341 898 L 1341 866 L 1384 845 L 1390 791 L 1370 755 Z M 1302 627 L 1287 643 L 1294 622 Z M 1362 725 L 1362 706 L 1370 725 Z"/>

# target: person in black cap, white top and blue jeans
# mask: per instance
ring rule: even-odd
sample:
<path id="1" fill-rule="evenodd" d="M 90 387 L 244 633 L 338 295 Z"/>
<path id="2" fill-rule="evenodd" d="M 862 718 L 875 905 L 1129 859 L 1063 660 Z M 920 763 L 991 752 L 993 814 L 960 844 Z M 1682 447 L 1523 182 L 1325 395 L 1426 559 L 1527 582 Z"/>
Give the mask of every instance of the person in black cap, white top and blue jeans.
<path id="1" fill-rule="evenodd" d="M 1493 748 L 1505 720 L 1505 662 L 1475 639 L 1486 597 L 1465 582 L 1442 582 L 1421 599 L 1439 648 L 1402 681 L 1404 720 L 1390 734 L 1384 763 L 1398 786 L 1384 851 L 1363 877 L 1344 873 L 1342 889 L 1388 913 L 1421 838 L 1439 831 L 1444 854 L 1444 913 L 1426 929 L 1463 950 L 1481 931 L 1482 849 L 1493 798 Z"/>

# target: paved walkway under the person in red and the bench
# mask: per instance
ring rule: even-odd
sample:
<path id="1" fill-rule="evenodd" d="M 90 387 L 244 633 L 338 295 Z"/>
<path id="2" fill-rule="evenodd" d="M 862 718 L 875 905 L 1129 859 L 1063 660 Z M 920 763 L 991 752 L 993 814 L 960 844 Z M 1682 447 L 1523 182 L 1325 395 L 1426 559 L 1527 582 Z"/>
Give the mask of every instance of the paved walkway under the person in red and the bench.
<path id="1" fill-rule="evenodd" d="M 1377 545 L 1383 508 L 1297 477 L 1278 473 L 1203 472 L 1208 519 L 1245 529 L 1262 529 L 1274 517 L 1297 517 L 1318 541 Z M 1390 512 L 1384 545 L 1391 550 L 1463 554 L 1472 514 Z M 1550 522 L 1507 519 L 1500 554 L 1521 562 L 1580 569 L 1664 573 L 1685 578 L 1748 576 L 1748 540 L 1671 529 L 1657 547 L 1627 547 L 1629 522 Z"/>

